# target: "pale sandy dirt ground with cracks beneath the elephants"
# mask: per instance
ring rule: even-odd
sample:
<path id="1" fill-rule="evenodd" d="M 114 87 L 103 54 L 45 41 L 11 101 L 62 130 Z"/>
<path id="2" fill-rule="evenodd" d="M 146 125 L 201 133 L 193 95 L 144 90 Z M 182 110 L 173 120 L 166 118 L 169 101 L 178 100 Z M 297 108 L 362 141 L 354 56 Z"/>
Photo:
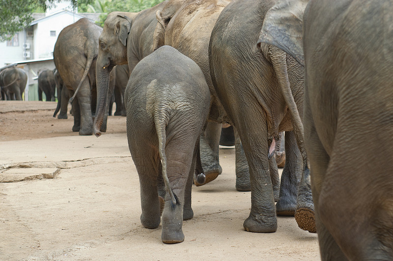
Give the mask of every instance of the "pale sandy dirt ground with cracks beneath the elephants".
<path id="1" fill-rule="evenodd" d="M 235 190 L 234 149 L 220 149 L 223 173 L 193 188 L 185 241 L 161 241 L 161 225 L 140 224 L 140 190 L 126 118 L 101 137 L 53 118 L 55 102 L 0 101 L 0 261 L 317 261 L 316 234 L 278 217 L 272 234 L 243 221 L 251 192 Z"/>

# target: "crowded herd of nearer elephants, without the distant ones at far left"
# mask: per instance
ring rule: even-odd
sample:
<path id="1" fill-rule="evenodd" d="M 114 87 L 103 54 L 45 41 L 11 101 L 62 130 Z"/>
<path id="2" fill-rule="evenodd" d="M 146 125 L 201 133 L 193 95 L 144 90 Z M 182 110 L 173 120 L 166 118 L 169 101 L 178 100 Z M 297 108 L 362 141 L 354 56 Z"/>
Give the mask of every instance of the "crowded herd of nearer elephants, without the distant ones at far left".
<path id="1" fill-rule="evenodd" d="M 162 221 L 163 242 L 184 240 L 192 183 L 222 172 L 230 124 L 245 230 L 294 215 L 318 231 L 322 260 L 392 260 L 392 26 L 390 0 L 166 0 L 67 26 L 54 61 L 80 135 L 106 131 L 122 82 L 140 220 Z"/>

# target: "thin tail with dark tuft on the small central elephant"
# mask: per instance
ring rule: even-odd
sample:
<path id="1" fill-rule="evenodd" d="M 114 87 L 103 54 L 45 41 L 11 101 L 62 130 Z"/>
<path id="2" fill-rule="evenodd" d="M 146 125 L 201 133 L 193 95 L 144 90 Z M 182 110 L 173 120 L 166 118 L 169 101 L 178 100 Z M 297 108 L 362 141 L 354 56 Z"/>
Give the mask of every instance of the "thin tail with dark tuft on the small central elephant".
<path id="1" fill-rule="evenodd" d="M 154 124 L 156 126 L 156 131 L 158 136 L 158 153 L 160 154 L 161 164 L 163 167 L 162 172 L 163 172 L 164 183 L 172 200 L 172 208 L 174 208 L 174 206 L 176 206 L 177 203 L 177 197 L 173 193 L 172 189 L 170 188 L 170 183 L 167 173 L 167 156 L 165 155 L 165 144 L 167 143 L 167 134 L 166 134 L 167 122 L 168 120 L 164 110 L 159 110 L 157 113 L 154 114 Z"/>

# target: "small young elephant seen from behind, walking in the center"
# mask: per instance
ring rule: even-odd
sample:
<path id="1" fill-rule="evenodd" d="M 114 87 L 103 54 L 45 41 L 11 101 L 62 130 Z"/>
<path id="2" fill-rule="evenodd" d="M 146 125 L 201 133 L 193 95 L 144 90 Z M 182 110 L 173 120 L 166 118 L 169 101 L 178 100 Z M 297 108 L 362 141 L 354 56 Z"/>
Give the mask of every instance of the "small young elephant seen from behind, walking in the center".
<path id="1" fill-rule="evenodd" d="M 132 71 L 125 106 L 128 145 L 140 180 L 140 221 L 147 228 L 160 224 L 161 178 L 166 190 L 161 239 L 182 242 L 183 219 L 193 217 L 191 187 L 199 134 L 210 106 L 203 72 L 187 56 L 163 46 Z"/>

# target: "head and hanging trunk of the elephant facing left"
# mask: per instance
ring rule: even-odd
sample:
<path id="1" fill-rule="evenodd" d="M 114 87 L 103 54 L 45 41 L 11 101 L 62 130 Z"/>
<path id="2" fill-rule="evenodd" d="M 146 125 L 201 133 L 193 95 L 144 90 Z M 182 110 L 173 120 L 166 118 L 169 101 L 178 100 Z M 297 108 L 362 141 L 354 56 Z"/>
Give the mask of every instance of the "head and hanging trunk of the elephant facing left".
<path id="1" fill-rule="evenodd" d="M 112 12 L 108 15 L 98 40 L 96 63 L 97 111 L 94 134 L 101 135 L 100 127 L 106 110 L 110 73 L 115 65 L 127 64 L 127 38 L 135 13 Z"/>

